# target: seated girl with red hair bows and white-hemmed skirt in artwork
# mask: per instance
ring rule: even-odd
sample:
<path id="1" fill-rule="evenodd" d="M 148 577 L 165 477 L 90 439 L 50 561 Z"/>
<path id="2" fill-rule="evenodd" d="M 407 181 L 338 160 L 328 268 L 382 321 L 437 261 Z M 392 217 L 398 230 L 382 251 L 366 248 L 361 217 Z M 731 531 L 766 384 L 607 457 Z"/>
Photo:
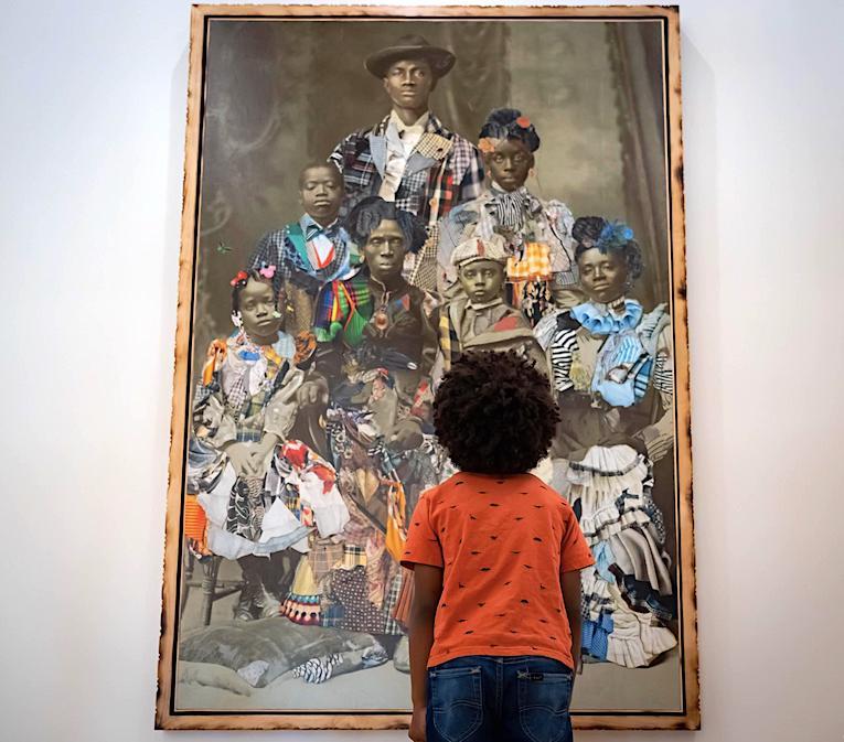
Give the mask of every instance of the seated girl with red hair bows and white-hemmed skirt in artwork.
<path id="1" fill-rule="evenodd" d="M 268 483 L 293 427 L 305 380 L 297 364 L 307 352 L 282 329 L 274 277 L 268 266 L 232 280 L 236 330 L 211 343 L 193 404 L 189 487 L 207 521 L 202 546 L 241 563 L 245 587 L 235 616 L 243 620 L 278 613 L 286 592 L 279 583 L 292 573 L 279 573 L 285 560 L 273 555 L 307 551 L 316 525 L 312 514 L 302 516 L 307 498 L 288 507 L 293 503 Z"/>

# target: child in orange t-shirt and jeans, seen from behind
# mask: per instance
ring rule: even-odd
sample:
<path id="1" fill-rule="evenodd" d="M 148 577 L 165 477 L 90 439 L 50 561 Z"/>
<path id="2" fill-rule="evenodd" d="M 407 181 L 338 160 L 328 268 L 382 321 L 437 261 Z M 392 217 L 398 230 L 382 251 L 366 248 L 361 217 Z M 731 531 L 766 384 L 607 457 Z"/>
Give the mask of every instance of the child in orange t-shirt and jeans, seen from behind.
<path id="1" fill-rule="evenodd" d="M 412 740 L 571 740 L 579 570 L 594 560 L 571 507 L 528 473 L 558 418 L 512 351 L 466 354 L 442 379 L 434 423 L 461 471 L 419 498 L 402 560 Z"/>

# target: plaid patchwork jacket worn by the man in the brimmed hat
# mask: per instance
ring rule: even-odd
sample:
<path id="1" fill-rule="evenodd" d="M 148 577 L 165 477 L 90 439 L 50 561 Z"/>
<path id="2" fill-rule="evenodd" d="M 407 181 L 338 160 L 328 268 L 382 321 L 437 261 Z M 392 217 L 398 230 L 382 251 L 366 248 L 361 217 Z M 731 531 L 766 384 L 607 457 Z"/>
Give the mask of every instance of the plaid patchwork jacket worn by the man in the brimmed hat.
<path id="1" fill-rule="evenodd" d="M 341 141 L 329 157 L 343 173 L 345 203 L 342 215 L 366 196 L 377 195 L 387 162 L 389 116 L 370 129 Z M 396 206 L 421 217 L 427 226 L 483 191 L 483 160 L 478 149 L 446 129 L 432 114 L 425 133 L 407 159 Z"/>

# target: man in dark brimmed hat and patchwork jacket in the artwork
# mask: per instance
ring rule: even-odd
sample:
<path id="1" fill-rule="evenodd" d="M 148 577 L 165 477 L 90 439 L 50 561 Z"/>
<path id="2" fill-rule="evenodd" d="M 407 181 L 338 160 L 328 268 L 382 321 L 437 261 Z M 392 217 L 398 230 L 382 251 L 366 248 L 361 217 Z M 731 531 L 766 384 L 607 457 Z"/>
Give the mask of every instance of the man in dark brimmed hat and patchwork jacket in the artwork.
<path id="1" fill-rule="evenodd" d="M 455 62 L 451 52 L 416 34 L 366 57 L 393 109 L 374 127 L 349 135 L 329 158 L 343 173 L 344 213 L 377 195 L 418 216 L 430 232 L 453 206 L 481 194 L 480 152 L 428 110 L 431 92 Z"/>

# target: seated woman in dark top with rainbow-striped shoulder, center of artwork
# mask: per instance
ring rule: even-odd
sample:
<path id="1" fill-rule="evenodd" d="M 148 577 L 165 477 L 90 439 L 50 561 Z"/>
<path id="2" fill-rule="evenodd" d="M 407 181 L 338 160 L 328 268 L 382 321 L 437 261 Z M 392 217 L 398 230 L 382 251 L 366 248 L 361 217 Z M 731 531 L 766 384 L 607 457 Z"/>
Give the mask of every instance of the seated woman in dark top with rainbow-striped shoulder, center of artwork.
<path id="1" fill-rule="evenodd" d="M 321 623 L 400 634 L 394 609 L 405 518 L 437 478 L 429 428 L 430 370 L 437 355 L 432 297 L 402 276 L 405 256 L 425 241 L 418 219 L 373 196 L 346 228 L 364 262 L 325 284 L 317 301 L 316 373 L 305 395 L 328 394 L 327 433 L 351 521 L 343 544 L 300 564 L 291 600 L 321 603 Z"/>

